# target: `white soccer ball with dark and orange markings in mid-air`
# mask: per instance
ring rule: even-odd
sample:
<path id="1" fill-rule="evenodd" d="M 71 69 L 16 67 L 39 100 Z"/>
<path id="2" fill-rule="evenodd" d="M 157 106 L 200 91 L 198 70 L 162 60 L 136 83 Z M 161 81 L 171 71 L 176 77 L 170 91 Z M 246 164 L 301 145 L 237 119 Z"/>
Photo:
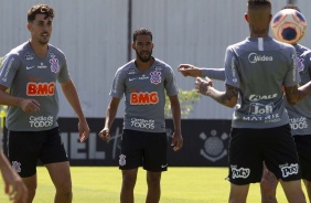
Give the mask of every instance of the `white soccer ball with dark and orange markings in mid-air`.
<path id="1" fill-rule="evenodd" d="M 307 21 L 301 12 L 294 9 L 283 9 L 274 17 L 271 30 L 276 40 L 296 44 L 305 34 Z"/>

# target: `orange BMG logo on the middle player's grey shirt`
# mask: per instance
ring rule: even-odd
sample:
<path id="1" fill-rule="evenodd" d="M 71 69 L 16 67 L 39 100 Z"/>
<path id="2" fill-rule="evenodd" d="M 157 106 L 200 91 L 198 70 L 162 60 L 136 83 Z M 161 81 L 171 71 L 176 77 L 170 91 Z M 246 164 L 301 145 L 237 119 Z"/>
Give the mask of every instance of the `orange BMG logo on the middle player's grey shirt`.
<path id="1" fill-rule="evenodd" d="M 131 105 L 156 105 L 158 103 L 159 103 L 159 97 L 157 92 L 130 94 Z"/>

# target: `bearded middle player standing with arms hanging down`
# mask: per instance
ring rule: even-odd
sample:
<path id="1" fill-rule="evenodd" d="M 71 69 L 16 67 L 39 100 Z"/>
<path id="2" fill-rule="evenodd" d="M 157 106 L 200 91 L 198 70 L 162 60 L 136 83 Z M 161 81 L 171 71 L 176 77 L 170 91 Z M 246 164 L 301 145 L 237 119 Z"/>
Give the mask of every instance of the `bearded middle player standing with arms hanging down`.
<path id="1" fill-rule="evenodd" d="M 110 90 L 111 100 L 99 137 L 105 141 L 109 140 L 109 129 L 125 95 L 126 109 L 119 156 L 119 168 L 122 171 L 120 202 L 133 202 L 137 172 L 142 165 L 147 170 L 146 202 L 156 203 L 160 201 L 161 172 L 168 169 L 165 93 L 170 98 L 174 124 L 171 146 L 174 151 L 179 151 L 183 145 L 179 88 L 171 66 L 152 56 L 152 33 L 148 29 L 133 32 L 132 49 L 136 51 L 136 58 L 116 72 Z"/>

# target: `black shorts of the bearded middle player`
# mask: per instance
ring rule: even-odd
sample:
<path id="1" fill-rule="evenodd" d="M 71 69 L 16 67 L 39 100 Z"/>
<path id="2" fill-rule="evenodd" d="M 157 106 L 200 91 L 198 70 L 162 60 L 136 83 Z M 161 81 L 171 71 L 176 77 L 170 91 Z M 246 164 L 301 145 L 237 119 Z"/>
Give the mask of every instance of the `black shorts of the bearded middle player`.
<path id="1" fill-rule="evenodd" d="M 143 167 L 147 171 L 168 170 L 168 139 L 165 132 L 144 132 L 125 129 L 119 157 L 119 169 Z"/>

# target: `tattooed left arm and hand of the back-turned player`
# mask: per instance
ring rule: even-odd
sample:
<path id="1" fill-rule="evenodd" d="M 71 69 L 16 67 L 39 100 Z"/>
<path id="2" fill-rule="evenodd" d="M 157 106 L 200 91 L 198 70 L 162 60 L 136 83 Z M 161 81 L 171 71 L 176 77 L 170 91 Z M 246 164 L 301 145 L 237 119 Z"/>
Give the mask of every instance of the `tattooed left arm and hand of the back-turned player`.
<path id="1" fill-rule="evenodd" d="M 211 84 L 212 81 L 208 77 L 205 77 L 205 79 L 197 77 L 195 81 L 195 88 L 199 93 L 212 97 L 224 106 L 230 108 L 235 107 L 238 98 L 238 88 L 226 85 L 226 92 L 219 92 L 212 87 Z"/>

